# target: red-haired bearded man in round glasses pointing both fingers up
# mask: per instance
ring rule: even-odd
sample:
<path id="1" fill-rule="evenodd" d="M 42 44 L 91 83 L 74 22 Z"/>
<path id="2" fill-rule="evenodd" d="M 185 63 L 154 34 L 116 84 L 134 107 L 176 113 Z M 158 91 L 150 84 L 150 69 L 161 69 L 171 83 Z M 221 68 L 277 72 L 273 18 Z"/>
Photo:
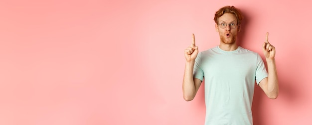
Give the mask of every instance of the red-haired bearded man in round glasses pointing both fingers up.
<path id="1" fill-rule="evenodd" d="M 270 99 L 278 97 L 275 47 L 269 43 L 267 33 L 262 46 L 267 72 L 258 53 L 237 45 L 242 19 L 238 8 L 220 8 L 214 17 L 220 44 L 198 53 L 193 34 L 192 44 L 184 51 L 183 98 L 193 100 L 205 80 L 205 125 L 253 125 L 251 105 L 255 82 Z"/>

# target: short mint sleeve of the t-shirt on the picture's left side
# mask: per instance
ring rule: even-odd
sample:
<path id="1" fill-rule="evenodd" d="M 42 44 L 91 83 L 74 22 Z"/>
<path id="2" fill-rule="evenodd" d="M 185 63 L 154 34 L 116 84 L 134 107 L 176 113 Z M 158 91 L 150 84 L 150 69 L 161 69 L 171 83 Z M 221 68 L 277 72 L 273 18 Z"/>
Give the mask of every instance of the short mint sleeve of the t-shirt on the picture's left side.
<path id="1" fill-rule="evenodd" d="M 201 54 L 202 53 L 198 53 L 198 55 L 195 59 L 195 64 L 194 64 L 194 69 L 193 69 L 193 77 L 203 81 L 204 71 L 202 70 Z"/>

